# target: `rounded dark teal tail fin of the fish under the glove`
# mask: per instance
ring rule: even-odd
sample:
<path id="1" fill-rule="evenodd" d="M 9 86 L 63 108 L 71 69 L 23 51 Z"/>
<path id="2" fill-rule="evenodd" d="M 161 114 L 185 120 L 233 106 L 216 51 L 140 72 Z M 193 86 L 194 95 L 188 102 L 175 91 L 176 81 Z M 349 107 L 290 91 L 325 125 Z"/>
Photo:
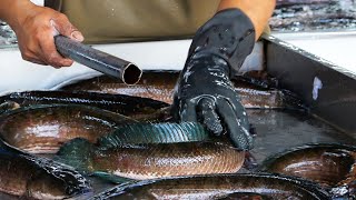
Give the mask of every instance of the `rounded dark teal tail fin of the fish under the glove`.
<path id="1" fill-rule="evenodd" d="M 76 138 L 66 142 L 57 152 L 53 160 L 76 168 L 80 172 L 89 172 L 93 144 L 82 138 Z"/>

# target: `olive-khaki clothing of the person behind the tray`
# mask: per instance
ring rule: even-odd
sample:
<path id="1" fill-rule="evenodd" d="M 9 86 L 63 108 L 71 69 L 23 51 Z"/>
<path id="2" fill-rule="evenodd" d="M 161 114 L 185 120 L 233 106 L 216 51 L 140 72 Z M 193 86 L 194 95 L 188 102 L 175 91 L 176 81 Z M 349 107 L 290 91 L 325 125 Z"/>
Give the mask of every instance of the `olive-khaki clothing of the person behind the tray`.
<path id="1" fill-rule="evenodd" d="M 219 0 L 47 0 L 87 43 L 182 39 L 211 18 Z"/>

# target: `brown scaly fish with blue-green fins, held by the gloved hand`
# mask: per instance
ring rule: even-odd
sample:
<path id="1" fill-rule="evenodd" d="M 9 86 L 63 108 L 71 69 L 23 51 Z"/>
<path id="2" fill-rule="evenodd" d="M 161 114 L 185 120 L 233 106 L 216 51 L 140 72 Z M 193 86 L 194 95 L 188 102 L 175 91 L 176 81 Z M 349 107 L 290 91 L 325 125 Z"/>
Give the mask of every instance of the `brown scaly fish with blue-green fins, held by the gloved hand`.
<path id="1" fill-rule="evenodd" d="M 85 172 L 108 172 L 130 179 L 234 173 L 244 163 L 244 151 L 229 142 L 209 141 L 198 123 L 158 123 L 146 134 L 137 132 L 149 126 L 125 126 L 126 132 L 101 137 L 97 144 L 85 139 L 71 140 L 56 158 Z"/>

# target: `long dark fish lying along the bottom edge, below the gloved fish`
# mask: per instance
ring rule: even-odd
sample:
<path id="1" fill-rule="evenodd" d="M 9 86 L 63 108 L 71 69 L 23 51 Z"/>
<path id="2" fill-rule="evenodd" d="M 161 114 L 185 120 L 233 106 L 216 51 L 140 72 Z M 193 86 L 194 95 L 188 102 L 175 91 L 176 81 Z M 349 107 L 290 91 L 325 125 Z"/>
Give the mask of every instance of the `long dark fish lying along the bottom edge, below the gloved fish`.
<path id="1" fill-rule="evenodd" d="M 119 186 L 93 199 L 225 199 L 229 194 L 265 199 L 329 199 L 317 186 L 276 174 L 215 174 L 145 180 Z"/>

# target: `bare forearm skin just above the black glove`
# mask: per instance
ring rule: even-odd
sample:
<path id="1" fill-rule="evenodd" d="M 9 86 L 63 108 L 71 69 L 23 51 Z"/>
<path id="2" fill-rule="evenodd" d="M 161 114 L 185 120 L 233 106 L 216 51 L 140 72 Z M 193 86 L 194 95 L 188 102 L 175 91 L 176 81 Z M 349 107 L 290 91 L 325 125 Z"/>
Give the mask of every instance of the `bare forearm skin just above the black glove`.
<path id="1" fill-rule="evenodd" d="M 267 26 L 276 6 L 276 0 L 221 0 L 218 11 L 229 8 L 238 8 L 251 20 L 256 40 Z"/>

